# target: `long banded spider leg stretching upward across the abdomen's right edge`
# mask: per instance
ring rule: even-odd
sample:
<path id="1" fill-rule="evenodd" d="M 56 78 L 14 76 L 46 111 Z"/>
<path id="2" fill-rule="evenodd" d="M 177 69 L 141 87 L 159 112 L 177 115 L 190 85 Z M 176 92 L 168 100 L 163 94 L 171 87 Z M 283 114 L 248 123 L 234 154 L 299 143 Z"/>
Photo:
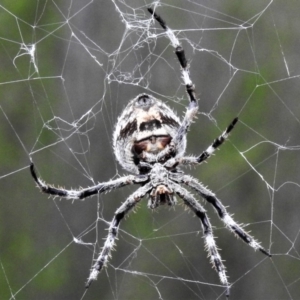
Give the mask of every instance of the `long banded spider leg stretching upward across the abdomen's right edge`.
<path id="1" fill-rule="evenodd" d="M 183 138 L 185 137 L 193 118 L 196 116 L 198 111 L 198 101 L 196 99 L 195 86 L 190 79 L 189 74 L 189 64 L 185 56 L 185 52 L 183 47 L 180 45 L 179 40 L 175 36 L 174 32 L 166 25 L 166 22 L 156 14 L 152 8 L 148 8 L 150 14 L 153 15 L 155 20 L 160 24 L 160 26 L 165 30 L 167 36 L 169 37 L 172 46 L 175 49 L 175 54 L 178 58 L 178 61 L 181 65 L 181 74 L 186 87 L 186 92 L 189 96 L 189 106 L 187 107 L 184 119 L 182 121 L 181 126 L 178 128 L 178 132 L 176 136 L 173 138 L 172 142 L 168 147 L 166 147 L 163 151 L 159 153 L 157 156 L 157 161 L 163 160 L 167 156 L 174 156 L 175 149 L 177 149 L 178 145 L 182 143 Z"/>

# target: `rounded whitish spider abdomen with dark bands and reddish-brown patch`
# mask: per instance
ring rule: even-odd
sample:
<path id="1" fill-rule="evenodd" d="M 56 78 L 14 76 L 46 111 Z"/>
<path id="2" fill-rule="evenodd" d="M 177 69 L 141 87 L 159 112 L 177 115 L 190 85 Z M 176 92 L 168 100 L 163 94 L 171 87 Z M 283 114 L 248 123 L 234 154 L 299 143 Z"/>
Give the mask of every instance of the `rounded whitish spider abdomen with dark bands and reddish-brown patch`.
<path id="1" fill-rule="evenodd" d="M 157 155 L 175 136 L 180 120 L 162 101 L 147 94 L 131 100 L 120 115 L 113 136 L 114 151 L 120 164 L 138 173 L 142 153 Z M 186 140 L 178 154 L 185 151 Z"/>

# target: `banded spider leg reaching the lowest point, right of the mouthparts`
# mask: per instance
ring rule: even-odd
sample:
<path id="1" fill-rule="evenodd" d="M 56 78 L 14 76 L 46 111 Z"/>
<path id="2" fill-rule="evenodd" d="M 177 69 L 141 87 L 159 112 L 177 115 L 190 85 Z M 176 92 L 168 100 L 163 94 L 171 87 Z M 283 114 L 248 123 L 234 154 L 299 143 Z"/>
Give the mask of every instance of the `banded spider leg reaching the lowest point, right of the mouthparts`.
<path id="1" fill-rule="evenodd" d="M 225 266 L 218 252 L 218 248 L 213 236 L 213 230 L 206 215 L 205 209 L 186 189 L 181 187 L 179 184 L 172 183 L 170 184 L 170 187 L 180 198 L 182 198 L 184 204 L 187 205 L 200 219 L 204 233 L 205 246 L 209 253 L 210 261 L 218 272 L 221 283 L 227 287 L 226 296 L 229 296 L 229 283 L 226 276 Z"/>

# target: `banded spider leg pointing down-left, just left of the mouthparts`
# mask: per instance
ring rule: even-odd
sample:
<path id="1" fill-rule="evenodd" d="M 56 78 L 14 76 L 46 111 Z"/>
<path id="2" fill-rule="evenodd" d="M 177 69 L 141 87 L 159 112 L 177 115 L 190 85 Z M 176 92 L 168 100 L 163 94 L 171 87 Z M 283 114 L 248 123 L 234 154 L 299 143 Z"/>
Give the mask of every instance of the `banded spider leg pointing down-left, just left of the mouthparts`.
<path id="1" fill-rule="evenodd" d="M 131 194 L 131 196 L 129 196 L 127 200 L 115 212 L 115 216 L 108 229 L 108 236 L 105 240 L 101 253 L 99 254 L 95 264 L 92 267 L 90 276 L 85 285 L 86 288 L 89 288 L 92 282 L 97 279 L 98 274 L 101 272 L 103 266 L 105 266 L 105 264 L 107 263 L 108 258 L 110 257 L 110 252 L 114 247 L 115 239 L 118 235 L 120 222 L 123 220 L 125 215 L 130 210 L 132 210 L 135 205 L 151 190 L 151 188 L 151 183 L 147 183 L 144 186 L 140 187 L 133 194 Z"/>

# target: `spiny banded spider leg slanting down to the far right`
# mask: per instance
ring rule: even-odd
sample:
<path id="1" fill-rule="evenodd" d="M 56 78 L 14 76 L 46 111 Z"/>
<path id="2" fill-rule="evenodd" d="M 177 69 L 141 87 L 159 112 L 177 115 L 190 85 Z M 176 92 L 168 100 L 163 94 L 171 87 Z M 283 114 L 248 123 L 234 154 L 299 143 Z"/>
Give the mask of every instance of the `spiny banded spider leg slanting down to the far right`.
<path id="1" fill-rule="evenodd" d="M 200 182 L 198 182 L 195 178 L 192 178 L 188 175 L 182 175 L 179 180 L 179 176 L 172 177 L 172 180 L 176 182 L 185 183 L 187 186 L 191 187 L 195 191 L 198 192 L 207 202 L 209 202 L 217 211 L 220 219 L 224 222 L 225 226 L 229 228 L 232 232 L 236 234 L 241 240 L 243 240 L 246 244 L 251 246 L 254 250 L 259 250 L 263 254 L 271 257 L 272 255 L 265 250 L 259 242 L 257 242 L 251 235 L 249 235 L 239 224 L 237 224 L 233 218 L 228 214 L 226 208 L 221 203 L 221 201 L 212 193 L 210 190 L 205 188 Z"/>

